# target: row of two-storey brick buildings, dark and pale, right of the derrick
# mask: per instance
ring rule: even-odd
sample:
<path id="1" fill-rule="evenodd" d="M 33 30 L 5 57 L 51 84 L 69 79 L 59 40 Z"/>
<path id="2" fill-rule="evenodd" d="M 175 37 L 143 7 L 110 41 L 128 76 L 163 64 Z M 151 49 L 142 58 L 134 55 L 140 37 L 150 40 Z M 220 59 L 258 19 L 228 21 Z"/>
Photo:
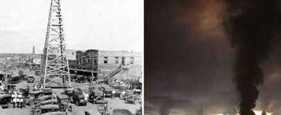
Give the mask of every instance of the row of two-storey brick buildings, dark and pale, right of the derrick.
<path id="1" fill-rule="evenodd" d="M 84 52 L 76 51 L 75 55 L 76 60 L 69 60 L 71 73 L 76 71 L 85 76 L 91 76 L 93 73 L 95 78 L 104 78 L 116 71 L 114 76 L 117 77 L 139 78 L 142 76 L 142 53 L 90 49 Z M 118 71 L 121 65 L 123 69 Z"/>

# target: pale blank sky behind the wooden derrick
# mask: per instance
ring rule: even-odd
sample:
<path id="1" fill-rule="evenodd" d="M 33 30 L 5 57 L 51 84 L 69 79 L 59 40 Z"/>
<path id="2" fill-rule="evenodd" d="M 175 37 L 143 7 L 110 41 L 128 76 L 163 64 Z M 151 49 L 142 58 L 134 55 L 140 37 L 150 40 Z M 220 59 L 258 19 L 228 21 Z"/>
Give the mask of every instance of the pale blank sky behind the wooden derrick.
<path id="1" fill-rule="evenodd" d="M 61 0 L 66 48 L 143 51 L 143 0 Z M 0 53 L 42 53 L 51 0 L 0 1 Z"/>

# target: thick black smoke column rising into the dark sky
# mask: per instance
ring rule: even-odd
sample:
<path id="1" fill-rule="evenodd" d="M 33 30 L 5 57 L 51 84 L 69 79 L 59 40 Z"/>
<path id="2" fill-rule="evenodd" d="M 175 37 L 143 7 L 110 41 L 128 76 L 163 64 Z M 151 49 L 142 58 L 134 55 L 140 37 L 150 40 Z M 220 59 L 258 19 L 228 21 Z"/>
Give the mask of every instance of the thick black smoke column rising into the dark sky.
<path id="1" fill-rule="evenodd" d="M 235 48 L 234 79 L 240 114 L 251 115 L 264 80 L 261 62 L 267 59 L 280 28 L 278 0 L 226 0 L 224 27 Z"/>

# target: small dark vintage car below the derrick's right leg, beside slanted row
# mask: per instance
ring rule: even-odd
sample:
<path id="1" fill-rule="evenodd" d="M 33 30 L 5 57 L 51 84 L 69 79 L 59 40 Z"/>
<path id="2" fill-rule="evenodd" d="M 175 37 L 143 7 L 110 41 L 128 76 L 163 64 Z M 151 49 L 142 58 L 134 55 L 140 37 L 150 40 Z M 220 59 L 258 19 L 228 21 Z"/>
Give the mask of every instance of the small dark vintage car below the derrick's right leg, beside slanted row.
<path id="1" fill-rule="evenodd" d="M 57 102 L 62 112 L 65 112 L 66 110 L 72 112 L 72 107 L 69 105 L 69 96 L 59 95 L 57 96 Z"/>

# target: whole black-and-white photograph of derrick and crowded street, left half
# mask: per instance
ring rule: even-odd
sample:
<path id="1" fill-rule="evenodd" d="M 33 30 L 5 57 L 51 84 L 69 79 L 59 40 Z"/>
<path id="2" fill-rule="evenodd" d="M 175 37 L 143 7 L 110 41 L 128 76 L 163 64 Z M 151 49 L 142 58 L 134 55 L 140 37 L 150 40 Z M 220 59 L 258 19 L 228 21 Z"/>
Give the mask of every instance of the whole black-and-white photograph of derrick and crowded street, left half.
<path id="1" fill-rule="evenodd" d="M 1 115 L 141 115 L 143 0 L 0 1 Z"/>

